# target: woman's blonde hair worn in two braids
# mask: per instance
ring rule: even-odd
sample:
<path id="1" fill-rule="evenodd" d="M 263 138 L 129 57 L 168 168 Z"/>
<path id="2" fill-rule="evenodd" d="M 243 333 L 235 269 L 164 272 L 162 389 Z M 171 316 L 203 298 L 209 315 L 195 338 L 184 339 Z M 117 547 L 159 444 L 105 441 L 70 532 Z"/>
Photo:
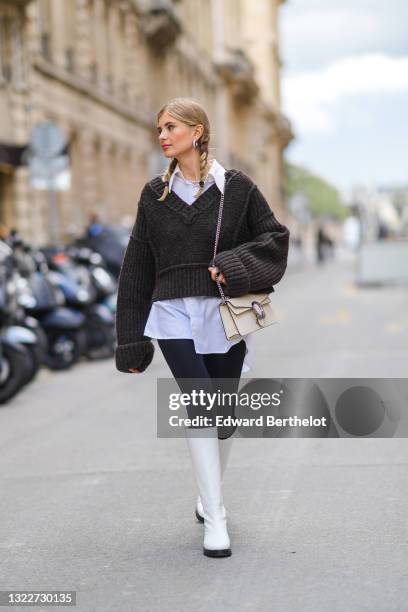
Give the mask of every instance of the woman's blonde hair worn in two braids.
<path id="1" fill-rule="evenodd" d="M 208 161 L 208 145 L 210 142 L 210 122 L 208 120 L 207 113 L 205 112 L 203 106 L 193 100 L 192 98 L 173 98 L 167 102 L 162 108 L 159 110 L 157 114 L 157 121 L 160 120 L 160 117 L 164 112 L 168 112 L 169 115 L 182 121 L 183 123 L 190 125 L 192 127 L 201 124 L 203 126 L 203 133 L 200 138 L 197 140 L 197 149 L 200 152 L 200 189 L 195 194 L 195 198 L 198 198 L 204 191 L 204 176 L 205 170 L 207 167 Z M 177 166 L 177 158 L 173 157 L 171 162 L 169 163 L 167 170 L 164 172 L 162 176 L 162 181 L 165 185 L 163 194 L 160 198 L 158 198 L 159 202 L 163 202 L 168 193 L 169 193 L 169 180 L 171 175 L 173 174 L 176 166 Z"/>

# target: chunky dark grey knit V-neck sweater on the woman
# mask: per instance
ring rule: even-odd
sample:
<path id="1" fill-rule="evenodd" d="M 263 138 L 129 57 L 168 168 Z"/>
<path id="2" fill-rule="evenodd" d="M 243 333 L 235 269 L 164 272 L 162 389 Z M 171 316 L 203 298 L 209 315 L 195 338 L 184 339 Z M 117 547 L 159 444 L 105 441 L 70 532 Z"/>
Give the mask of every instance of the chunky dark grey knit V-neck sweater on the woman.
<path id="1" fill-rule="evenodd" d="M 192 205 L 156 177 L 144 186 L 119 275 L 116 367 L 144 371 L 154 346 L 143 335 L 151 304 L 189 296 L 220 297 L 211 279 L 221 193 L 214 183 Z M 281 225 L 258 187 L 239 170 L 225 173 L 224 208 L 215 265 L 224 293 L 274 291 L 286 269 L 289 230 Z"/>

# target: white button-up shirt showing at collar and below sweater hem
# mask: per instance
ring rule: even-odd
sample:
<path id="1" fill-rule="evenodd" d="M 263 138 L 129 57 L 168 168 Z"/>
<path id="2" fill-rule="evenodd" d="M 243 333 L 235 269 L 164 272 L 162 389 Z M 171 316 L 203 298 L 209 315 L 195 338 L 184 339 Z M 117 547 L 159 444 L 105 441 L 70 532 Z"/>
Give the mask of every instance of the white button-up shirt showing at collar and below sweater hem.
<path id="1" fill-rule="evenodd" d="M 204 190 L 214 182 L 218 189 L 224 192 L 225 168 L 216 159 L 213 160 L 204 181 Z M 198 189 L 198 181 L 185 179 L 177 164 L 169 180 L 169 191 L 174 191 L 187 204 L 194 206 L 194 195 Z M 226 338 L 218 308 L 221 301 L 221 297 L 194 296 L 153 302 L 144 335 L 156 339 L 191 339 L 196 353 L 226 353 L 242 338 Z M 252 368 L 252 337 L 247 334 L 243 338 L 247 348 L 242 372 L 248 372 Z"/>

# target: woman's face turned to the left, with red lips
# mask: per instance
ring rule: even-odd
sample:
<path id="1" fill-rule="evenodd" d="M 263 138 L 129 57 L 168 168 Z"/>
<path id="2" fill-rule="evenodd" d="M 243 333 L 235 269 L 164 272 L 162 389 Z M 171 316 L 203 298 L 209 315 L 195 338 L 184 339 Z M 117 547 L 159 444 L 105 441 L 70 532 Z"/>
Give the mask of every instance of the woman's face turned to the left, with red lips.
<path id="1" fill-rule="evenodd" d="M 180 157 L 191 151 L 194 138 L 202 134 L 202 127 L 187 125 L 165 111 L 158 121 L 157 131 L 164 155 Z"/>

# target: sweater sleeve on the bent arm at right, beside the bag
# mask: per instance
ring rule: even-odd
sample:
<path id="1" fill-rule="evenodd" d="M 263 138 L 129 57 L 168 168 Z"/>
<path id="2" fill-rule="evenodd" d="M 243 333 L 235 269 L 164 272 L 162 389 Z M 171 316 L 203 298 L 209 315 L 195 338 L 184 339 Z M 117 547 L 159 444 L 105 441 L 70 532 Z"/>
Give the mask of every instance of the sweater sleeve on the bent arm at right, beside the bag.
<path id="1" fill-rule="evenodd" d="M 287 266 L 289 230 L 276 219 L 256 185 L 250 194 L 247 219 L 252 240 L 217 253 L 214 260 L 230 297 L 273 291 Z"/>

